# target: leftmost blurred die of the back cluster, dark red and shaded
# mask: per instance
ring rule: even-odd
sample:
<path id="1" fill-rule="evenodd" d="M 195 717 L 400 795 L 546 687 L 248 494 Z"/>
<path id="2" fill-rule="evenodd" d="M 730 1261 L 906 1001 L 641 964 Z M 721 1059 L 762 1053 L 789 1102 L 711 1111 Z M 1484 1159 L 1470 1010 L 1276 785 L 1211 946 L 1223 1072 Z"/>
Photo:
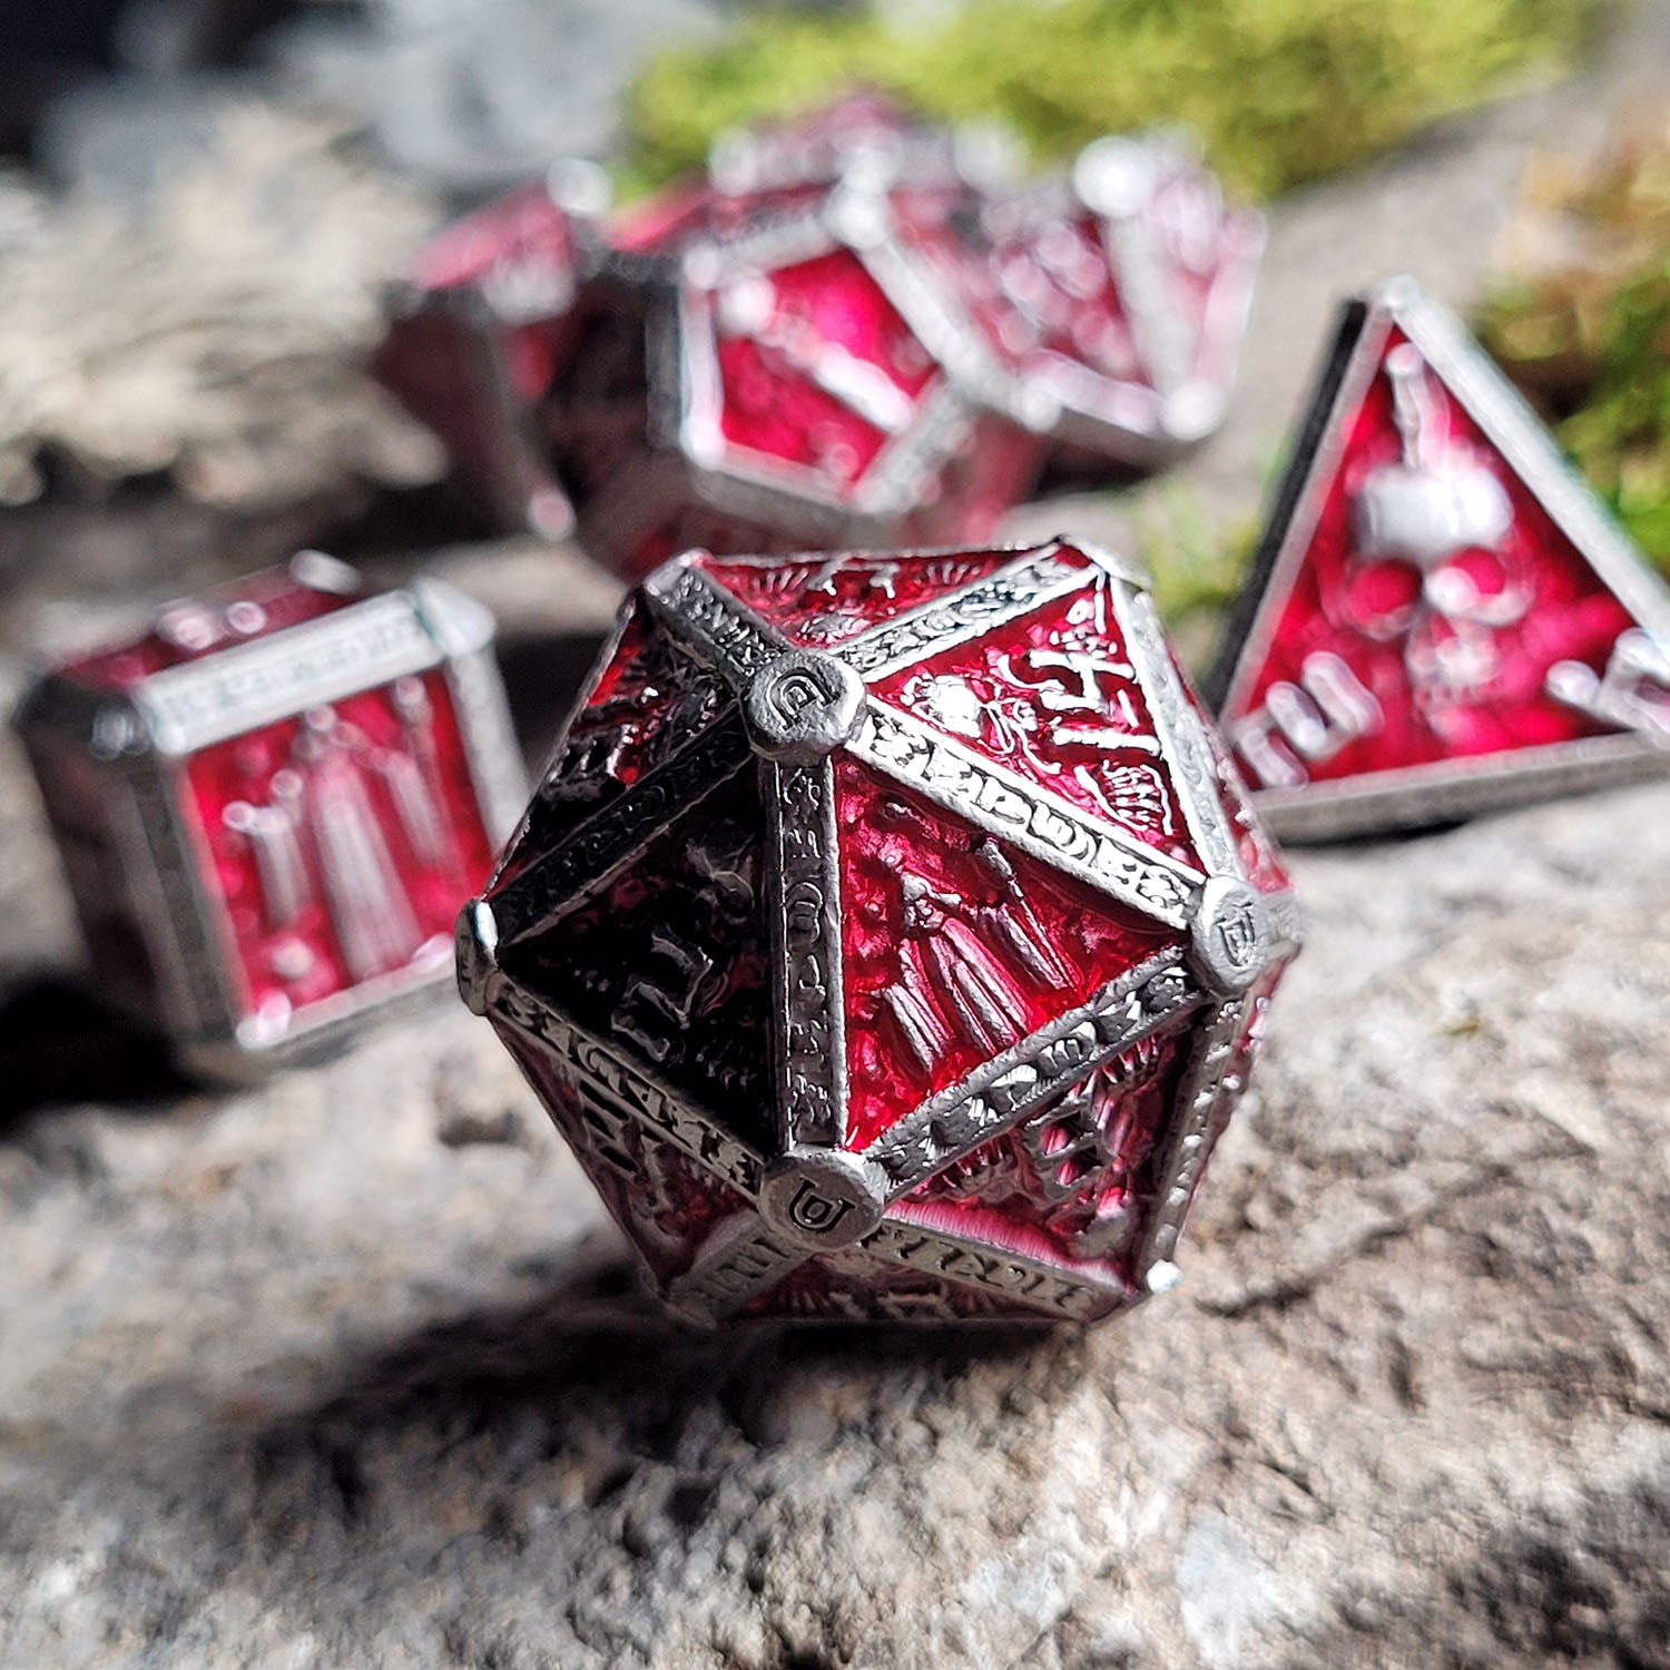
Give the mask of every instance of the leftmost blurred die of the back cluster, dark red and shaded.
<path id="1" fill-rule="evenodd" d="M 377 377 L 446 444 L 461 486 L 501 528 L 559 538 L 573 506 L 534 411 L 579 337 L 576 299 L 601 252 L 608 180 L 549 174 L 438 232 L 392 299 Z"/>

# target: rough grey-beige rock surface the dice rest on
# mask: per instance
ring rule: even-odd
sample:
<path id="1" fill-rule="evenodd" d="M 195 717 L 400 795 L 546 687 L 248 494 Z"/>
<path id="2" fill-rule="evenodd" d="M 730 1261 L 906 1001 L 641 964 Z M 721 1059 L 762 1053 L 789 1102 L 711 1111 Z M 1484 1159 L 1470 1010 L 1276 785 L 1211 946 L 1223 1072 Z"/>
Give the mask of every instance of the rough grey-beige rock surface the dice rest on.
<path id="1" fill-rule="evenodd" d="M 1465 301 L 1510 159 L 1597 85 L 1284 209 L 1201 479 L 1279 434 L 1321 297 L 1399 264 Z M 25 641 L 279 539 L 17 526 L 5 696 Z M 446 566 L 538 748 L 611 583 Z M 444 997 L 259 1091 L 172 1080 L 70 984 L 0 745 L 0 1665 L 1670 1667 L 1670 783 L 1296 870 L 1311 945 L 1177 1293 L 1089 1336 L 698 1338 Z"/>

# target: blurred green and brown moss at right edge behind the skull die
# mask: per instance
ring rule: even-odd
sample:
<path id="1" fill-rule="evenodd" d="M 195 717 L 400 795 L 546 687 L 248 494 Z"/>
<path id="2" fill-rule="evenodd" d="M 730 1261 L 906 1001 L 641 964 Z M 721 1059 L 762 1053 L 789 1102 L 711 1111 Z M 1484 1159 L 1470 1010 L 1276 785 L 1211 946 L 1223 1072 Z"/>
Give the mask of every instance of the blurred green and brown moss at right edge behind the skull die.
<path id="1" fill-rule="evenodd" d="M 1670 122 L 1533 167 L 1506 266 L 1486 347 L 1670 571 Z"/>

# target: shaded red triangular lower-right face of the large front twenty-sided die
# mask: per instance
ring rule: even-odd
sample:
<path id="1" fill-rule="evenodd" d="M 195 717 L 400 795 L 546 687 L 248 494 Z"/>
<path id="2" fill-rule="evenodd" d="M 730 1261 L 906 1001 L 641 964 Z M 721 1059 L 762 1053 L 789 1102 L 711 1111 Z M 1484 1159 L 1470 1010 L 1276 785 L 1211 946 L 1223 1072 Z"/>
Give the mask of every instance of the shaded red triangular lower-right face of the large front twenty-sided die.
<path id="1" fill-rule="evenodd" d="M 1129 1278 L 1144 1167 L 1177 1117 L 1192 1037 L 1147 1039 L 895 1207 L 910 1222 Z"/>

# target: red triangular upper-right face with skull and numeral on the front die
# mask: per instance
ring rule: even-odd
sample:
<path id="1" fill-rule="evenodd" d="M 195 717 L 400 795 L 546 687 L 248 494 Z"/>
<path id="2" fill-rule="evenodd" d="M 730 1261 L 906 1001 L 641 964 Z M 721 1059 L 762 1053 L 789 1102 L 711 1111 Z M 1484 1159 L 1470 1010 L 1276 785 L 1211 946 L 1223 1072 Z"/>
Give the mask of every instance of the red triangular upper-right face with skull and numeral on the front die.
<path id="1" fill-rule="evenodd" d="M 1106 576 L 887 673 L 880 700 L 1182 863 L 1194 847 Z"/>

